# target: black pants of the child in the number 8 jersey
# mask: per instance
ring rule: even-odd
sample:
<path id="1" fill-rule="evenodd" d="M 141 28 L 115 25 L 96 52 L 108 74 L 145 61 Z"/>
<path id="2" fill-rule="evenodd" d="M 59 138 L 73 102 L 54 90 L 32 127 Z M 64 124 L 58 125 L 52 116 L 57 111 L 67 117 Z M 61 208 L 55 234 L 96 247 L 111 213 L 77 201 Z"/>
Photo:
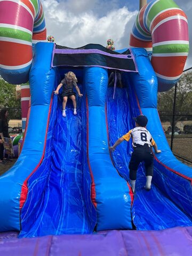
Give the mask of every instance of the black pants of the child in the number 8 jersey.
<path id="1" fill-rule="evenodd" d="M 129 163 L 131 180 L 136 180 L 137 169 L 141 162 L 145 163 L 146 176 L 153 176 L 154 156 L 152 149 L 147 144 L 133 148 Z"/>

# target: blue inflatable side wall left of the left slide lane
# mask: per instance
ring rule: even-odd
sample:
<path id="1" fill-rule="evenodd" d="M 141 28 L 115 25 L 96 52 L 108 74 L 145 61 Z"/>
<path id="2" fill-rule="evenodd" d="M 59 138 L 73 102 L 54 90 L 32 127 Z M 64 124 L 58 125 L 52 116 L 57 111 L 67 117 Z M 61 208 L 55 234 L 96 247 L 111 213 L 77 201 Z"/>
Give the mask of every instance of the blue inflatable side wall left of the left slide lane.
<path id="1" fill-rule="evenodd" d="M 23 183 L 41 162 L 43 156 L 55 81 L 55 69 L 50 69 L 52 49 L 53 44 L 38 43 L 35 47 L 35 56 L 38 58 L 33 59 L 31 73 L 37 72 L 39 75 L 30 74 L 30 77 L 33 77 L 33 81 L 30 81 L 33 90 L 31 90 L 32 100 L 25 142 L 17 163 L 0 177 L 0 195 L 3 195 L 0 196 L 0 231 L 20 230 L 21 189 L 27 193 L 26 185 Z M 42 55 L 46 57 L 43 58 Z M 37 98 L 40 100 L 35 101 Z"/>

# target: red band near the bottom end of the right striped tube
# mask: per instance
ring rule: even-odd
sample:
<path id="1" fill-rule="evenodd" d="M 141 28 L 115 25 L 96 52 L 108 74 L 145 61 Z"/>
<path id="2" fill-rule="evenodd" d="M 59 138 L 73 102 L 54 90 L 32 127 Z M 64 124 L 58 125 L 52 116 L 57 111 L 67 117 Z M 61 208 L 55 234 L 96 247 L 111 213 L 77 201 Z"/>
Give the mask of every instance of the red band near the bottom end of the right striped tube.
<path id="1" fill-rule="evenodd" d="M 151 64 L 160 75 L 174 77 L 182 74 L 185 66 L 187 56 L 173 56 L 173 57 L 154 57 L 152 55 Z M 173 67 L 170 69 L 170 67 Z"/>

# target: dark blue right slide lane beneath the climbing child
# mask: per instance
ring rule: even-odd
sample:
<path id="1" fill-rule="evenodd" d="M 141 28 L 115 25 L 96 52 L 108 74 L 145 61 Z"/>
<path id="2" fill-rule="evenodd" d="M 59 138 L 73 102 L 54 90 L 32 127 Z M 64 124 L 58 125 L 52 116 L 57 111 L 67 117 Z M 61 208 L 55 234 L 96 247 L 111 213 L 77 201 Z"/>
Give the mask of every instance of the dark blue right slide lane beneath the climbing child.
<path id="1" fill-rule="evenodd" d="M 133 117 L 137 116 L 137 113 L 133 109 L 134 102 L 130 96 L 131 94 L 127 89 L 117 88 L 115 99 L 113 99 L 113 88 L 108 89 L 107 117 L 111 145 L 134 127 Z M 126 180 L 129 180 L 129 162 L 132 150 L 130 140 L 129 142 L 122 142 L 113 153 L 115 167 Z M 157 172 L 160 171 L 155 168 L 155 175 Z M 173 175 L 175 176 L 174 173 Z M 143 165 L 139 167 L 132 206 L 133 223 L 137 230 L 160 230 L 177 226 L 191 226 L 192 219 L 162 193 L 156 186 L 156 179 L 155 177 L 153 180 L 155 183 L 153 183 L 151 190 L 146 191 L 144 189 L 145 167 Z M 177 177 L 174 181 L 177 181 Z M 178 186 L 178 189 L 180 190 L 181 186 Z M 169 190 L 171 191 L 170 187 Z"/>

